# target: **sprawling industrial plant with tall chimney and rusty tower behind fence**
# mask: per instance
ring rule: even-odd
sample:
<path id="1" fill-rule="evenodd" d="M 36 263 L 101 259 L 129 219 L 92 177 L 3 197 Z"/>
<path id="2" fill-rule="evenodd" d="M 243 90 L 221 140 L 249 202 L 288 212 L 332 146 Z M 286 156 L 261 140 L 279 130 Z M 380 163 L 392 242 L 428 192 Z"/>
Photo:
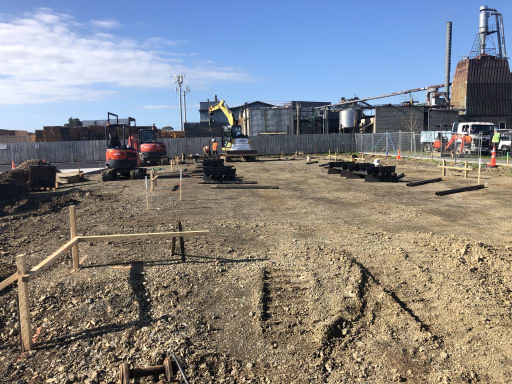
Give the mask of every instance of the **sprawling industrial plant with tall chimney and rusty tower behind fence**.
<path id="1" fill-rule="evenodd" d="M 495 24 L 489 20 L 494 16 Z M 496 42 L 494 41 L 496 38 Z M 450 80 L 452 23 L 446 23 L 444 84 L 339 102 L 253 101 L 231 108 L 249 136 L 271 134 L 419 132 L 449 127 L 454 122 L 492 122 L 512 127 L 512 74 L 506 57 L 503 17 L 494 8 L 480 7 L 479 29 L 471 54 L 457 63 Z M 426 91 L 424 102 L 412 98 Z M 399 104 L 370 104 L 370 100 L 404 95 Z M 201 102 L 199 123 L 185 123 L 185 136 L 220 135 L 227 118 Z"/>

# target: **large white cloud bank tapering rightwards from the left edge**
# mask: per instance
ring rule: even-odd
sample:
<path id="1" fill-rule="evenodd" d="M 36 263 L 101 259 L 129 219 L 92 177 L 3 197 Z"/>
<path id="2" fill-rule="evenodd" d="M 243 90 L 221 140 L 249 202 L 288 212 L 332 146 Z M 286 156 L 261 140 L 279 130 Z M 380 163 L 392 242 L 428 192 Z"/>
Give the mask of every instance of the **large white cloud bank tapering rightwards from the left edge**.
<path id="1" fill-rule="evenodd" d="M 148 40 L 90 31 L 70 15 L 48 9 L 4 19 L 0 41 L 0 105 L 98 100 L 120 88 L 173 88 L 170 74 L 176 73 L 184 73 L 185 82 L 196 87 L 211 81 L 250 81 L 236 68 L 148 48 Z"/>

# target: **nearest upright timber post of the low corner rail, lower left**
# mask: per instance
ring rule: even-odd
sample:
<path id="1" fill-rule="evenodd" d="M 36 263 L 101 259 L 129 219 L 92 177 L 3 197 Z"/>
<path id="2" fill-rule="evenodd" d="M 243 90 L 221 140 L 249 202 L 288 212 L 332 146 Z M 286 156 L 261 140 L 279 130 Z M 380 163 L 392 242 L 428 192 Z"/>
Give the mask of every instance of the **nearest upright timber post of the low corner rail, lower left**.
<path id="1" fill-rule="evenodd" d="M 19 303 L 19 334 L 22 352 L 32 349 L 32 325 L 30 321 L 29 283 L 25 283 L 23 275 L 27 273 L 27 256 L 16 256 L 16 272 L 18 274 L 18 303 Z"/>

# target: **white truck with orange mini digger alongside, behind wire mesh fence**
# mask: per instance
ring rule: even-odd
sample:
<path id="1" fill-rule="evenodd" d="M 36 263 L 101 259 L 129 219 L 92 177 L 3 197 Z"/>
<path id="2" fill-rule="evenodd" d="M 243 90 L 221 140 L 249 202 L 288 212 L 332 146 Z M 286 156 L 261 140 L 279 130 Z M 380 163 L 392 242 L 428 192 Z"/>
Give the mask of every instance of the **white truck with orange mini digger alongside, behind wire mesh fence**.
<path id="1" fill-rule="evenodd" d="M 436 125 L 437 127 L 437 125 Z M 495 125 L 480 121 L 457 122 L 452 124 L 449 131 L 424 131 L 421 133 L 421 143 L 425 152 L 452 151 L 460 155 L 489 153 L 493 148 L 491 137 Z M 481 140 L 481 142 L 480 142 Z"/>

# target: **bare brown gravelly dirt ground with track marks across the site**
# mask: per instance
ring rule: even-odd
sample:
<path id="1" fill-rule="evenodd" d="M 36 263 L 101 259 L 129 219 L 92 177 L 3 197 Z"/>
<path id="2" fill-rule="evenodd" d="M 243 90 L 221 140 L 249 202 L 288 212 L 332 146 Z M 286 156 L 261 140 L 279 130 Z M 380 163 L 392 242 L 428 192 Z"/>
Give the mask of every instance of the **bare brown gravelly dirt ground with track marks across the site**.
<path id="1" fill-rule="evenodd" d="M 321 161 L 322 163 L 322 161 Z M 397 164 L 402 180 L 440 176 Z M 507 383 L 512 381 L 512 177 L 483 190 L 448 171 L 407 187 L 327 175 L 304 160 L 233 163 L 280 189 L 211 189 L 161 171 L 144 181 L 89 181 L 0 202 L 0 278 L 15 255 L 36 265 L 82 235 L 210 230 L 170 240 L 80 243 L 30 283 L 35 347 L 20 354 L 15 287 L 0 293 L 0 382 L 115 383 L 118 367 L 176 353 L 191 383 Z M 195 168 L 183 165 L 185 175 Z M 146 382 L 145 379 L 141 382 Z M 149 380 L 147 381 L 149 382 Z"/>

